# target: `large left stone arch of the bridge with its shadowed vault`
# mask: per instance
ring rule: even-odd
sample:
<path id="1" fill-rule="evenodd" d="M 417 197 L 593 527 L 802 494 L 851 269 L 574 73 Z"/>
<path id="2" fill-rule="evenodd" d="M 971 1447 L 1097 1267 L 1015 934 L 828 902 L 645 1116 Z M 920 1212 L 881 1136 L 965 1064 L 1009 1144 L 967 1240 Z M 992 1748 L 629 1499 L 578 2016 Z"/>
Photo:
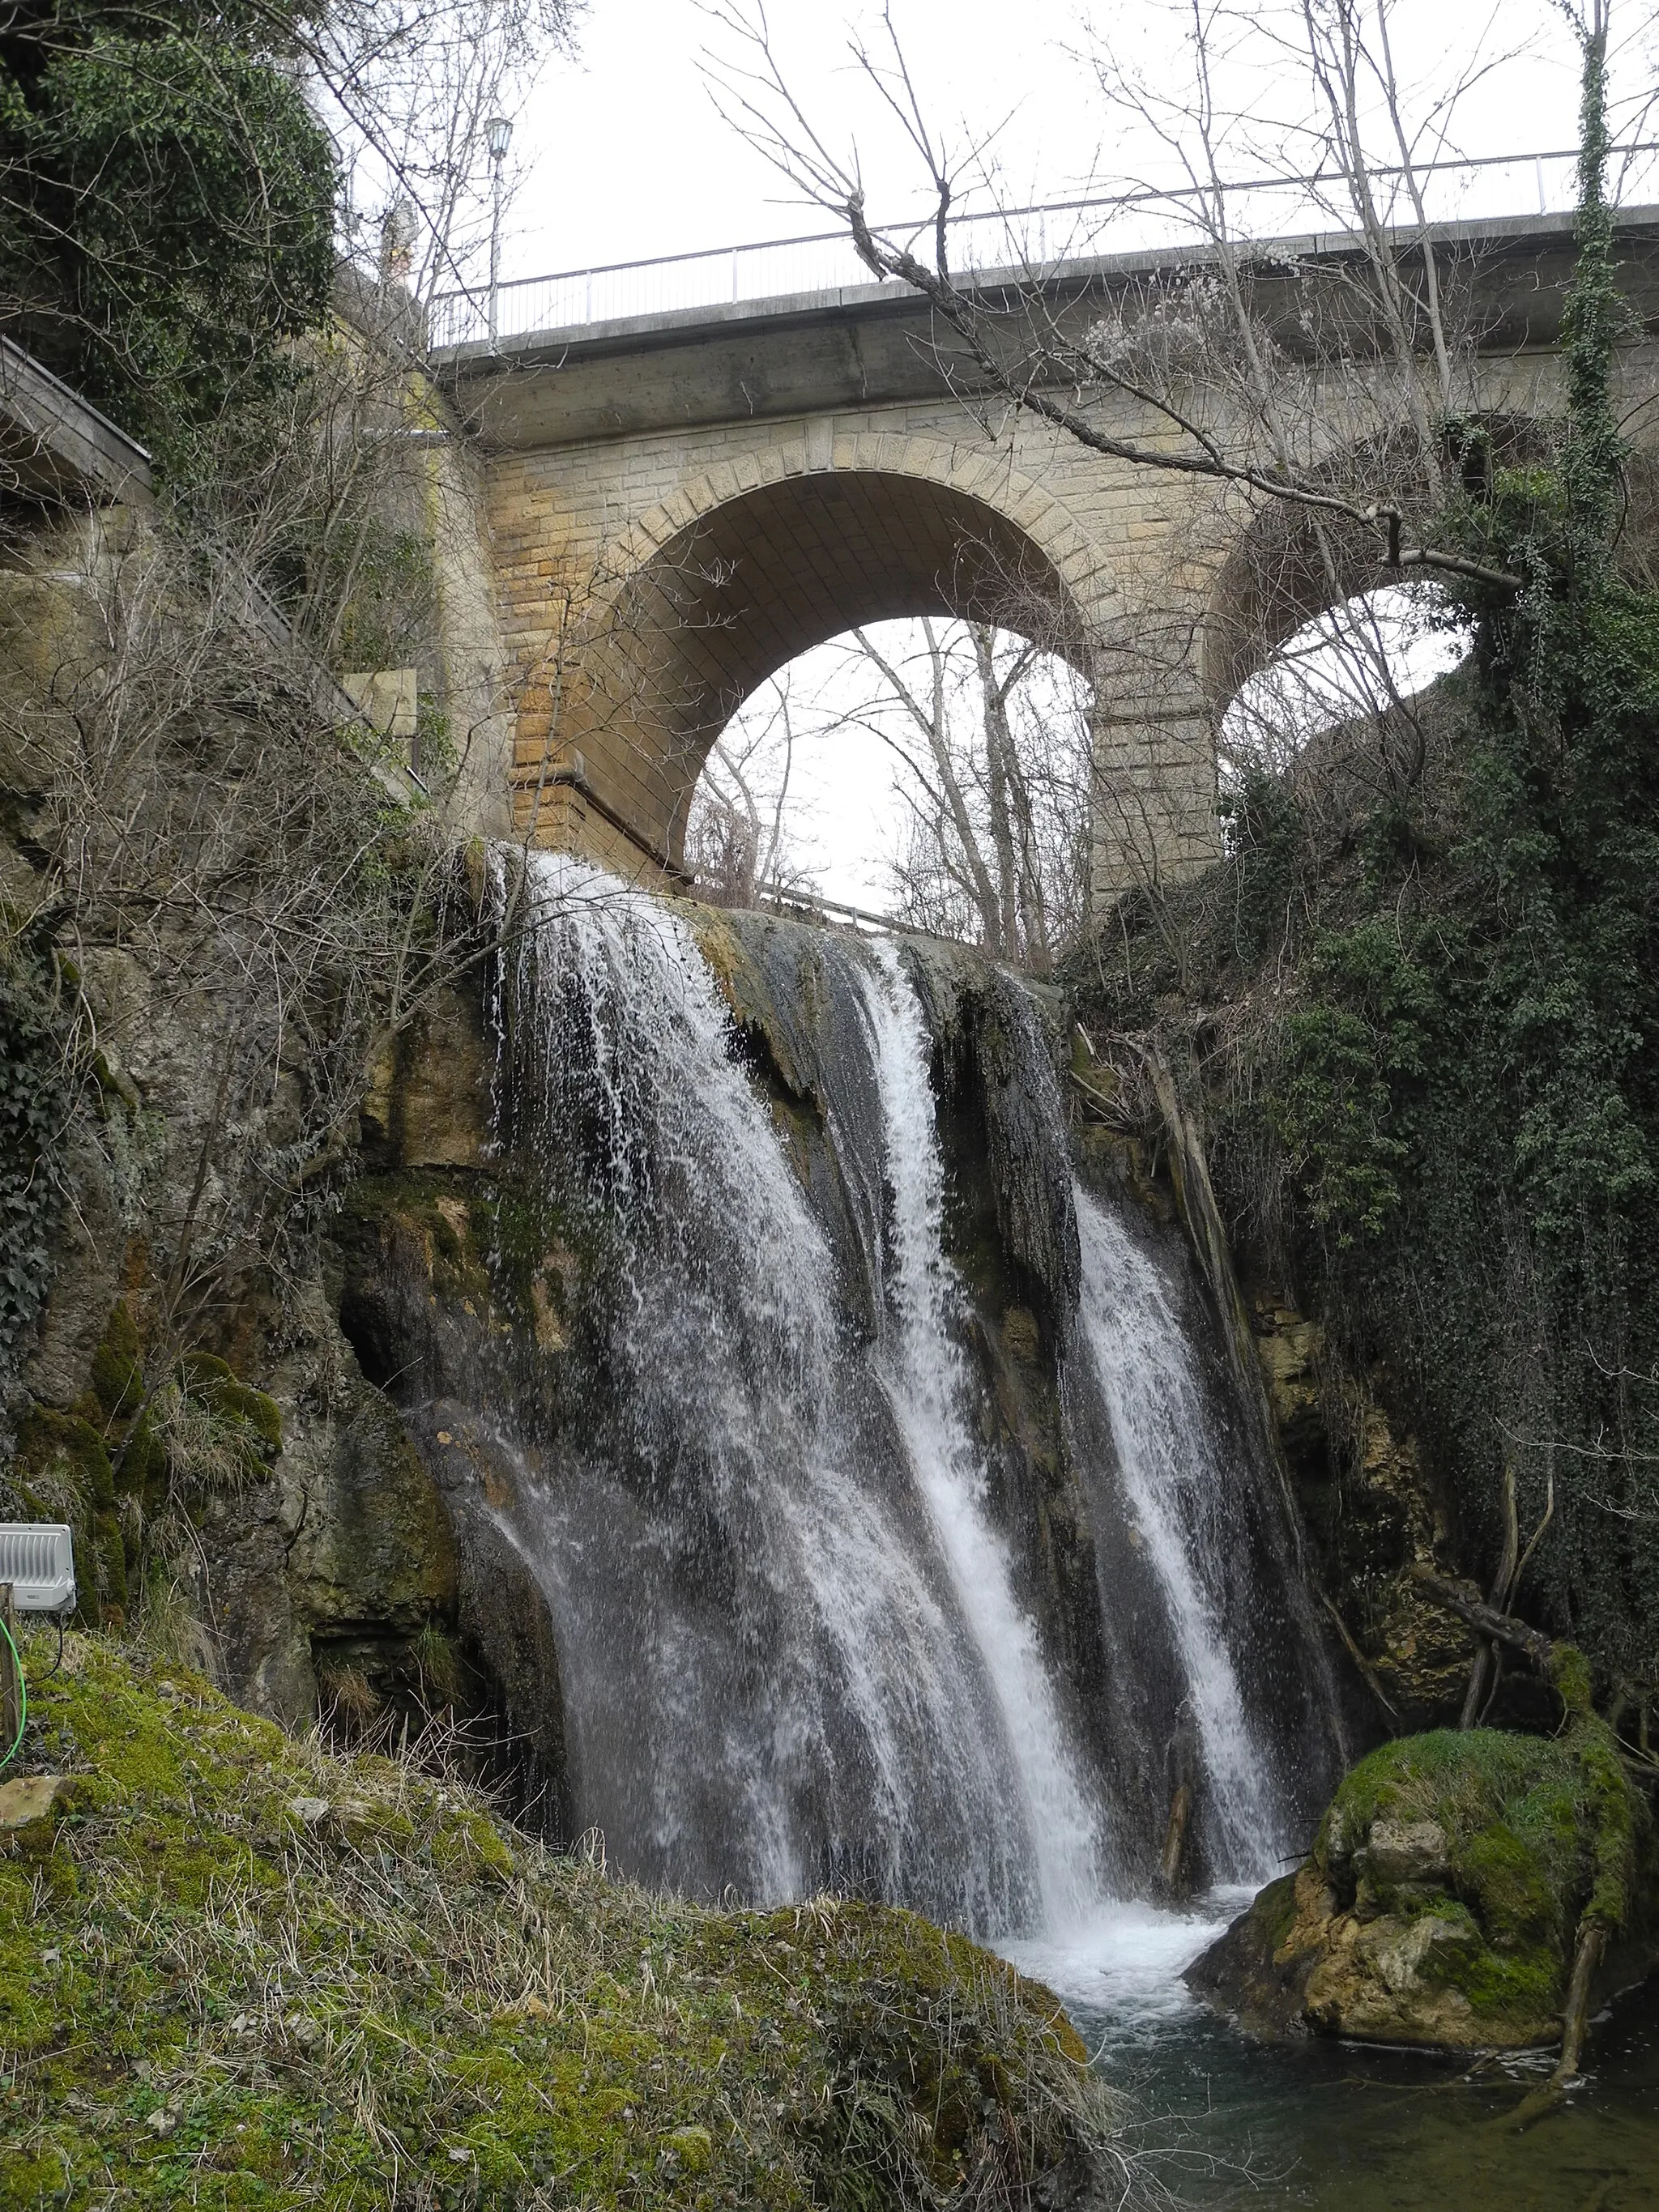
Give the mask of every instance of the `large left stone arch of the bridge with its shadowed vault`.
<path id="1" fill-rule="evenodd" d="M 1042 487 L 982 451 L 891 434 L 836 440 L 810 462 L 796 447 L 748 480 L 714 469 L 615 540 L 575 664 L 540 670 L 524 695 L 520 830 L 677 867 L 697 776 L 730 717 L 854 626 L 987 619 L 1042 633 L 1093 672 L 1110 580 Z"/>

